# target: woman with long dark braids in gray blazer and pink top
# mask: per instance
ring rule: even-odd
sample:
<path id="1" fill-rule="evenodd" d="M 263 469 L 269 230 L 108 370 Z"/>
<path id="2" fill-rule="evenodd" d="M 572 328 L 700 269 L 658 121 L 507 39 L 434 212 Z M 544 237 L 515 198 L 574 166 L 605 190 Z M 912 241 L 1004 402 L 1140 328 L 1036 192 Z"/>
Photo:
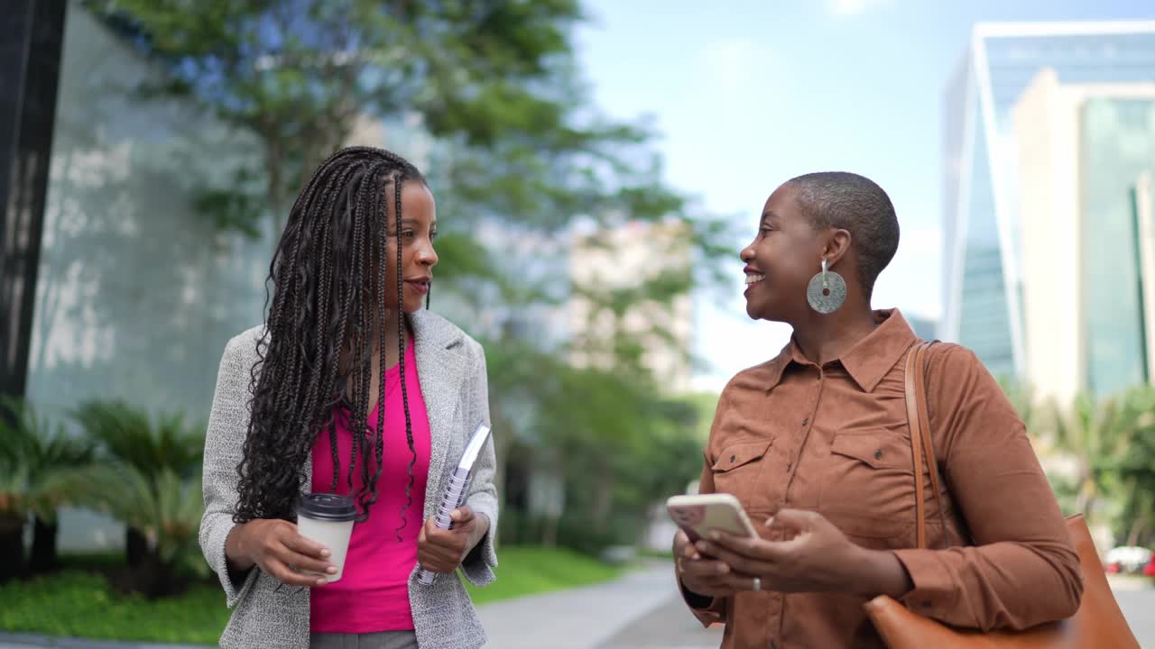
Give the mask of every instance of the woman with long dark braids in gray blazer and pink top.
<path id="1" fill-rule="evenodd" d="M 353 147 L 325 161 L 273 255 L 266 322 L 225 346 L 204 446 L 201 549 L 236 606 L 222 647 L 479 647 L 457 568 L 493 581 L 493 448 L 450 530 L 454 461 L 489 424 L 485 357 L 429 306 L 437 212 L 420 172 Z M 270 298 L 270 299 L 269 299 Z M 341 579 L 297 531 L 301 492 L 351 498 Z M 424 524 L 423 524 L 424 522 Z M 441 577 L 416 581 L 422 566 Z"/>

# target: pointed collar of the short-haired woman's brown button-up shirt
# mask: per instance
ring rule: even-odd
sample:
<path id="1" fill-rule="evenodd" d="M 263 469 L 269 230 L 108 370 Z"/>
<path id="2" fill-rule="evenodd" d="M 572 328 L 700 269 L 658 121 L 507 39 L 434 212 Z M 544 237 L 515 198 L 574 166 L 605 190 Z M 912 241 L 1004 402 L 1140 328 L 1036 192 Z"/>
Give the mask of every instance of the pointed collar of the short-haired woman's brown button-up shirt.
<path id="1" fill-rule="evenodd" d="M 858 383 L 858 387 L 867 393 L 874 390 L 882 376 L 918 341 L 897 308 L 875 311 L 874 320 L 878 322 L 878 327 L 873 331 L 855 343 L 840 358 L 832 359 L 832 363 L 834 360 L 841 363 L 850 378 Z M 782 381 L 782 373 L 791 363 L 813 365 L 803 356 L 793 336 L 768 365 L 769 383 L 766 386 L 767 390 L 773 389 Z"/>

